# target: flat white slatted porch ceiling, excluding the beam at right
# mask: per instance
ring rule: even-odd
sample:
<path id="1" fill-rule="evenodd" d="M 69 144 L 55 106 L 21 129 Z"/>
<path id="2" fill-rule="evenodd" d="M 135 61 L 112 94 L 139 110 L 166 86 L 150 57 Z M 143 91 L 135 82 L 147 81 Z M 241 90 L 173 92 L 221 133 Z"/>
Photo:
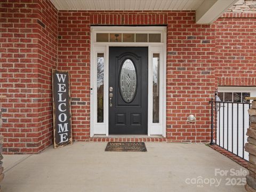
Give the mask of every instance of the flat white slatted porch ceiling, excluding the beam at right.
<path id="1" fill-rule="evenodd" d="M 58 10 L 196 10 L 204 0 L 51 0 Z"/>

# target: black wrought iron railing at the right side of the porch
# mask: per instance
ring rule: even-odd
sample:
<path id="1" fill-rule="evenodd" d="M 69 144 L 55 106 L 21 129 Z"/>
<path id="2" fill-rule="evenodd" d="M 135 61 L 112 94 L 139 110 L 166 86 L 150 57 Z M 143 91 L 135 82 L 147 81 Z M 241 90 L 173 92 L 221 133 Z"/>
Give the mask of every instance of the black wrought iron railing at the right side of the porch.
<path id="1" fill-rule="evenodd" d="M 221 148 L 248 161 L 244 150 L 246 130 L 250 126 L 247 112 L 251 103 L 214 101 L 211 102 L 211 145 Z"/>

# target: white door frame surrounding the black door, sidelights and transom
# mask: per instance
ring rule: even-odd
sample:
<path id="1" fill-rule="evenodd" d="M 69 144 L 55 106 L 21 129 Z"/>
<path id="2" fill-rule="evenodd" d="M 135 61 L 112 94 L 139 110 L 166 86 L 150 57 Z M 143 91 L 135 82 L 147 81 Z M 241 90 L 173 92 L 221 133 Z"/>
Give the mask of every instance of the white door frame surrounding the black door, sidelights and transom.
<path id="1" fill-rule="evenodd" d="M 161 43 L 96 42 L 97 33 L 147 33 L 161 34 Z M 109 46 L 148 47 L 148 136 L 166 137 L 166 27 L 91 27 L 91 97 L 90 97 L 90 137 L 108 136 L 108 68 Z M 104 94 L 103 123 L 97 123 L 97 53 L 104 54 Z M 153 53 L 159 53 L 159 123 L 153 123 Z M 125 136 L 125 135 L 124 135 Z M 127 135 L 126 135 L 127 137 Z"/>

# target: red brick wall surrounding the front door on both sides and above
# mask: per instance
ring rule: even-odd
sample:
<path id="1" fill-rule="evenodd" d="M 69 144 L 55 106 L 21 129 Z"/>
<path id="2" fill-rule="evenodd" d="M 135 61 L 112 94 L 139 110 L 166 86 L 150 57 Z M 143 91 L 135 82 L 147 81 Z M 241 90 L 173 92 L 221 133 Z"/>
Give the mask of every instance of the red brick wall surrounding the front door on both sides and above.
<path id="1" fill-rule="evenodd" d="M 73 136 L 90 137 L 90 25 L 167 25 L 167 139 L 210 139 L 214 93 L 214 29 L 195 25 L 195 12 L 60 11 L 59 69 L 71 74 Z M 193 87 L 193 89 L 192 89 Z M 195 125 L 187 116 L 197 117 Z"/>

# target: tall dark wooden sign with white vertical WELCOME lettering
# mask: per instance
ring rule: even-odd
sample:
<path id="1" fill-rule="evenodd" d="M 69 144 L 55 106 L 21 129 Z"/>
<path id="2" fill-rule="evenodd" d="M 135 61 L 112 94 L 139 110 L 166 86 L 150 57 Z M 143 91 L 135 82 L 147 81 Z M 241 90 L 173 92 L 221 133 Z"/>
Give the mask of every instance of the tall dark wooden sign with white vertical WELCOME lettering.
<path id="1" fill-rule="evenodd" d="M 54 148 L 71 145 L 71 105 L 69 74 L 52 70 Z"/>

